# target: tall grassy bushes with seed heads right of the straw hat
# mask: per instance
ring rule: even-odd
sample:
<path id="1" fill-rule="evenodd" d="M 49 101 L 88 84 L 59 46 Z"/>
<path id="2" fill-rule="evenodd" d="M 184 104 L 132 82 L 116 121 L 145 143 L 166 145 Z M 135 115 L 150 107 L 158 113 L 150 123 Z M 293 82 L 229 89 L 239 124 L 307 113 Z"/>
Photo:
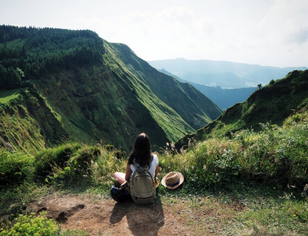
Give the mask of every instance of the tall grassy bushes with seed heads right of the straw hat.
<path id="1" fill-rule="evenodd" d="M 230 139 L 208 139 L 183 153 L 174 153 L 167 145 L 160 172 L 162 176 L 182 172 L 191 190 L 251 182 L 304 186 L 308 179 L 305 114 L 291 116 L 283 127 L 260 124 L 259 132 L 241 130 Z"/>

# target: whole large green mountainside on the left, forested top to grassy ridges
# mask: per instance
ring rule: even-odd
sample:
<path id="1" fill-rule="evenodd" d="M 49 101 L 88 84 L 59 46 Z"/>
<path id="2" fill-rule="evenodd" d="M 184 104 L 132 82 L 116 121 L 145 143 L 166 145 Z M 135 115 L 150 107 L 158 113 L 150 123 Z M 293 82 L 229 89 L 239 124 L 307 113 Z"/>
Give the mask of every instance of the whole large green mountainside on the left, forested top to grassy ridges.
<path id="1" fill-rule="evenodd" d="M 7 149 L 70 139 L 128 151 L 140 132 L 159 149 L 222 112 L 191 85 L 89 30 L 0 26 L 0 55 L 0 144 Z"/>

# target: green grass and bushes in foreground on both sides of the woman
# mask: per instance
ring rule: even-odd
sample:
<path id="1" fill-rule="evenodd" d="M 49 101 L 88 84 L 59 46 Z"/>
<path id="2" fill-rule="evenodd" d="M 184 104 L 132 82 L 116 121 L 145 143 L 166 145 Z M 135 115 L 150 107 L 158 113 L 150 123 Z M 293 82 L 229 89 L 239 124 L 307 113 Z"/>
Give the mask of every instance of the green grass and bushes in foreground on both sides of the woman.
<path id="1" fill-rule="evenodd" d="M 167 144 L 159 155 L 159 178 L 170 171 L 180 171 L 185 181 L 172 191 L 160 186 L 158 194 L 173 202 L 178 198 L 195 199 L 196 206 L 196 198 L 204 195 L 226 204 L 236 200 L 249 208 L 232 218 L 237 221 L 237 230 L 253 229 L 254 234 L 247 235 L 306 233 L 308 114 L 296 113 L 282 127 L 260 125 L 259 132 L 241 130 L 230 138 L 191 141 L 189 148 L 179 153 L 174 144 Z M 125 158 L 119 159 L 118 150 L 107 147 L 101 143 L 87 146 L 68 142 L 37 153 L 32 156 L 34 162 L 28 155 L 11 153 L 12 158 L 2 152 L 2 174 L 12 175 L 15 171 L 10 170 L 9 157 L 19 159 L 19 168 L 28 170 L 20 184 L 2 186 L 0 212 L 4 213 L 0 228 L 8 230 L 9 215 L 20 211 L 30 199 L 45 194 L 44 191 L 100 194 L 109 198 L 113 173 L 124 172 L 126 162 Z M 5 171 L 5 166 L 10 171 Z"/>

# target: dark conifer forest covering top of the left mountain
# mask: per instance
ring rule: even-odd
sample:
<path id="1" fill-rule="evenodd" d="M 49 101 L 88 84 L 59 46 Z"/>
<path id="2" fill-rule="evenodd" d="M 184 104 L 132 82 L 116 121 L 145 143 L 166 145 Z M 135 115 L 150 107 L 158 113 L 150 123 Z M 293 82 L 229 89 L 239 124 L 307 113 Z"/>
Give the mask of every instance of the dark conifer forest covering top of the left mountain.
<path id="1" fill-rule="evenodd" d="M 104 47 L 90 30 L 0 27 L 0 88 L 49 73 L 100 63 Z"/>

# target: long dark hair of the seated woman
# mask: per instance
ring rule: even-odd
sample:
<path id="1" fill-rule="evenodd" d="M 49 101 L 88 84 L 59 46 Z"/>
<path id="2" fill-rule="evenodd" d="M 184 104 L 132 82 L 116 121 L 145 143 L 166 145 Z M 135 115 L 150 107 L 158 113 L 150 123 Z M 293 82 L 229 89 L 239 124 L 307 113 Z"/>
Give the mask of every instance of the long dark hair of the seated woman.
<path id="1" fill-rule="evenodd" d="M 145 133 L 141 133 L 136 137 L 133 150 L 127 159 L 127 164 L 132 164 L 133 160 L 142 167 L 149 167 L 153 161 L 150 139 Z"/>

